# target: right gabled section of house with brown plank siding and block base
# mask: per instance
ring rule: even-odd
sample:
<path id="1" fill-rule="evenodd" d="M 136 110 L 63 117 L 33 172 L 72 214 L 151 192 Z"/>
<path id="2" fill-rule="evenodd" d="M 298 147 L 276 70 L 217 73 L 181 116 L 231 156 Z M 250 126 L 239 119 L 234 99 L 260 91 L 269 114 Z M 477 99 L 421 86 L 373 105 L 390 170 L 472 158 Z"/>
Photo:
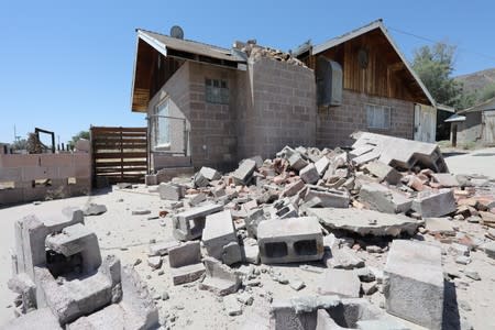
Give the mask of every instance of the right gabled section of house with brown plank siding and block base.
<path id="1" fill-rule="evenodd" d="M 355 130 L 435 142 L 435 100 L 382 20 L 296 55 L 315 69 L 319 96 L 331 90 L 326 81 L 342 90 L 318 99 L 318 145 L 346 145 Z M 327 72 L 338 81 L 326 79 Z"/>

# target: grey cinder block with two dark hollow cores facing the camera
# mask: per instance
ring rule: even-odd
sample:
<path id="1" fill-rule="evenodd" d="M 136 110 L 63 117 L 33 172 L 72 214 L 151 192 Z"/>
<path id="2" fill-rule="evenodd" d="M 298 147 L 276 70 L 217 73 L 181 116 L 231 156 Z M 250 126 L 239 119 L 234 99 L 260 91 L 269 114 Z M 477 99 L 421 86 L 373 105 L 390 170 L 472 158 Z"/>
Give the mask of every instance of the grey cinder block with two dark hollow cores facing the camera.
<path id="1" fill-rule="evenodd" d="M 318 219 L 301 217 L 266 220 L 257 227 L 262 263 L 292 263 L 321 260 L 323 235 Z"/>

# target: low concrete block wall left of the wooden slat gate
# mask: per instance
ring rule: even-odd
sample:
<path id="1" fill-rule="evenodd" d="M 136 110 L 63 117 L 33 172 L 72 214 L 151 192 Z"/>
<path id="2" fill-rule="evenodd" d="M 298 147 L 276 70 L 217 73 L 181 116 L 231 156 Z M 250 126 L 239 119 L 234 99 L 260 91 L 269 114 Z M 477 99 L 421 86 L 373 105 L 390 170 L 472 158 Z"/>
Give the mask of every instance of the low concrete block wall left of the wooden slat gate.
<path id="1" fill-rule="evenodd" d="M 44 179 L 51 179 L 51 186 L 35 185 Z M 88 153 L 0 154 L 0 186 L 10 187 L 0 188 L 0 206 L 86 195 L 91 189 L 91 157 Z"/>

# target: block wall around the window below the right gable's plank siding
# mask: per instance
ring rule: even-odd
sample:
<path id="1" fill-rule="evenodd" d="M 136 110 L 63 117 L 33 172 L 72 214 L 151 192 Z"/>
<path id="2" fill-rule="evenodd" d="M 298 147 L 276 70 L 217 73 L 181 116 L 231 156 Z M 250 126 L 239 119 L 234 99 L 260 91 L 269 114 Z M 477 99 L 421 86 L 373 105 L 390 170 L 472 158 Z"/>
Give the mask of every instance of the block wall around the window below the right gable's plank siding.
<path id="1" fill-rule="evenodd" d="M 366 103 L 392 108 L 391 129 L 367 128 Z M 414 103 L 409 101 L 373 97 L 344 89 L 342 92 L 342 106 L 318 111 L 317 146 L 336 147 L 351 145 L 353 140 L 350 138 L 350 134 L 355 131 L 413 139 L 414 111 Z"/>

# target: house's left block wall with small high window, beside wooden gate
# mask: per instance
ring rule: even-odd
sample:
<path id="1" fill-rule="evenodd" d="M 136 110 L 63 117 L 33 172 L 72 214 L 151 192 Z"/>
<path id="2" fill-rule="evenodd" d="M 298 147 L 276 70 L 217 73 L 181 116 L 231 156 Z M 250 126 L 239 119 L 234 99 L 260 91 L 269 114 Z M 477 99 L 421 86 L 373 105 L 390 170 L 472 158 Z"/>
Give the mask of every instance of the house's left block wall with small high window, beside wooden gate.
<path id="1" fill-rule="evenodd" d="M 210 166 L 220 170 L 235 166 L 238 162 L 235 75 L 234 69 L 186 62 L 151 100 L 148 113 L 154 113 L 156 106 L 169 97 L 172 105 L 169 116 L 187 120 L 187 128 L 190 131 L 188 156 L 191 157 L 191 162 L 184 162 L 183 166 L 189 166 L 191 163 L 198 169 L 201 166 Z M 229 105 L 206 101 L 207 78 L 228 81 Z M 182 131 L 182 122 L 170 121 L 172 147 L 177 151 L 184 148 Z M 174 140 L 174 136 L 180 138 Z M 176 162 L 172 163 L 177 166 Z M 170 157 L 152 156 L 152 167 L 155 170 L 169 166 Z"/>

